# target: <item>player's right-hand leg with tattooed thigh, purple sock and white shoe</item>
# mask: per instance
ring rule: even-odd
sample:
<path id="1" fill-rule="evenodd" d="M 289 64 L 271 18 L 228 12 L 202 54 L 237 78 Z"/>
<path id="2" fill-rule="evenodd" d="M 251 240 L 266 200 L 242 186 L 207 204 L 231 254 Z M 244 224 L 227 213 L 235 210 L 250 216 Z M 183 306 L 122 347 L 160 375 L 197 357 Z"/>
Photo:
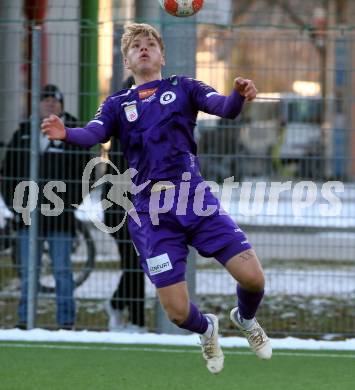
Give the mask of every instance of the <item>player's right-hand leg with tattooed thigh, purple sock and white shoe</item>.
<path id="1" fill-rule="evenodd" d="M 226 268 L 239 283 L 238 306 L 230 318 L 248 339 L 249 345 L 261 359 L 270 359 L 272 348 L 269 338 L 255 319 L 255 313 L 264 295 L 264 272 L 253 249 L 233 256 Z"/>

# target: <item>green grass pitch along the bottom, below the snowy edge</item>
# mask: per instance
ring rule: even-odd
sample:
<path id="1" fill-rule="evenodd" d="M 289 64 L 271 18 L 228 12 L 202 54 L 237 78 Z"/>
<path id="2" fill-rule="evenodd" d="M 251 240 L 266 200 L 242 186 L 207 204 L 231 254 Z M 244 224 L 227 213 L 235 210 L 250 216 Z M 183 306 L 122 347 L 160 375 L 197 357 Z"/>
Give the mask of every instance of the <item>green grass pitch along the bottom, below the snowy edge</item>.
<path id="1" fill-rule="evenodd" d="M 355 353 L 224 349 L 219 375 L 188 347 L 0 342 L 1 390 L 353 390 Z"/>

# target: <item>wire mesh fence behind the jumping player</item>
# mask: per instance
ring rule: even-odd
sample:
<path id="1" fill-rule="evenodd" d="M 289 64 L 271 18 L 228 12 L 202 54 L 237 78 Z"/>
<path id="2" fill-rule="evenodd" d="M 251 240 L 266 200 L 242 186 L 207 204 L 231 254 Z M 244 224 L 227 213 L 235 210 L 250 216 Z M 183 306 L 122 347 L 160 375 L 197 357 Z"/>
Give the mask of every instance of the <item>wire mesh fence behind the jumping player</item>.
<path id="1" fill-rule="evenodd" d="M 63 92 L 65 111 L 78 123 L 86 123 L 99 102 L 120 89 L 128 76 L 121 64 L 119 39 L 124 23 L 136 16 L 160 27 L 167 42 L 166 74 L 196 76 L 225 94 L 237 75 L 257 85 L 258 99 L 248 103 L 236 120 L 201 114 L 196 140 L 204 177 L 231 189 L 231 202 L 225 207 L 245 229 L 263 263 L 266 296 L 258 313 L 260 322 L 271 335 L 354 335 L 355 10 L 351 2 L 345 21 L 345 11 L 337 8 L 336 1 L 276 2 L 279 7 L 269 7 L 267 1 L 238 5 L 225 1 L 218 9 L 219 19 L 211 11 L 214 2 L 207 2 L 197 19 L 181 21 L 164 15 L 158 2 L 147 1 L 145 8 L 139 1 L 136 8 L 133 1 L 99 2 L 99 7 L 95 1 L 86 2 L 90 8 L 80 7 L 79 2 L 48 1 L 37 46 L 34 23 L 21 13 L 24 4 L 5 3 L 0 21 L 1 42 L 7 48 L 0 60 L 5 75 L 0 86 L 4 104 L 1 327 L 14 327 L 21 322 L 19 310 L 20 314 L 28 310 L 23 302 L 19 305 L 21 286 L 27 289 L 27 268 L 21 266 L 21 258 L 25 263 L 26 253 L 34 258 L 38 251 L 41 266 L 33 266 L 30 273 L 33 278 L 36 272 L 40 275 L 38 286 L 32 284 L 37 306 L 32 325 L 105 330 L 107 310 L 113 305 L 122 309 L 123 327 L 111 322 L 111 329 L 163 329 L 154 288 L 137 265 L 127 230 L 105 234 L 88 217 L 96 215 L 109 226 L 122 221 L 122 210 L 104 213 L 100 208 L 109 188 L 99 186 L 90 197 L 81 197 L 81 173 L 90 158 L 109 154 L 121 172 L 124 169 L 116 141 L 111 149 L 104 145 L 91 151 L 43 144 L 39 133 L 30 132 L 28 122 L 40 120 L 36 104 L 45 97 L 41 86 L 54 84 Z M 326 17 L 319 11 L 324 4 Z M 312 20 L 310 14 L 316 9 L 318 17 Z M 15 133 L 15 129 L 20 130 Z M 33 161 L 38 161 L 37 170 Z M 105 164 L 97 166 L 92 182 L 105 169 Z M 224 182 L 231 176 L 234 184 Z M 31 178 L 39 184 L 39 196 L 27 215 L 19 205 L 13 210 L 13 199 L 16 184 Z M 62 196 L 58 188 L 52 191 L 64 199 L 67 219 L 42 216 L 44 204 L 50 205 L 49 211 L 57 205 L 57 198 L 43 196 L 44 186 L 53 180 L 64 181 L 65 194 L 70 194 Z M 30 192 L 29 186 L 25 190 L 29 202 L 36 190 Z M 216 194 L 223 200 L 221 191 Z M 75 209 L 72 203 L 81 205 Z M 38 218 L 38 231 L 30 233 L 31 249 L 25 247 L 28 232 L 19 225 L 25 216 Z M 46 227 L 48 218 L 52 228 Z M 61 236 L 58 231 L 70 234 Z M 66 251 L 69 264 L 63 259 Z M 63 263 L 56 265 L 53 258 Z M 228 320 L 235 304 L 232 278 L 213 259 L 198 254 L 191 255 L 189 267 L 195 285 L 192 294 L 201 309 L 218 314 L 222 332 L 234 334 Z M 71 280 L 70 269 L 74 300 L 72 287 L 65 287 Z M 64 286 L 58 287 L 60 283 Z M 64 302 L 56 298 L 60 288 Z"/>

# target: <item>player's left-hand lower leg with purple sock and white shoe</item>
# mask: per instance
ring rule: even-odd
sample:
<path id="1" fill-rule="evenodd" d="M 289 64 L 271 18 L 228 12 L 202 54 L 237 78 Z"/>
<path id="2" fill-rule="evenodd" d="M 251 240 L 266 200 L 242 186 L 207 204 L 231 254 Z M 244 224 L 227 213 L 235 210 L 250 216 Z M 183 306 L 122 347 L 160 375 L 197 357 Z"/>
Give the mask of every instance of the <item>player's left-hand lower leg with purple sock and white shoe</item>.
<path id="1" fill-rule="evenodd" d="M 157 292 L 170 321 L 180 328 L 200 335 L 202 355 L 208 370 L 213 374 L 221 372 L 224 355 L 218 342 L 217 316 L 202 314 L 190 302 L 186 282 L 158 288 Z"/>

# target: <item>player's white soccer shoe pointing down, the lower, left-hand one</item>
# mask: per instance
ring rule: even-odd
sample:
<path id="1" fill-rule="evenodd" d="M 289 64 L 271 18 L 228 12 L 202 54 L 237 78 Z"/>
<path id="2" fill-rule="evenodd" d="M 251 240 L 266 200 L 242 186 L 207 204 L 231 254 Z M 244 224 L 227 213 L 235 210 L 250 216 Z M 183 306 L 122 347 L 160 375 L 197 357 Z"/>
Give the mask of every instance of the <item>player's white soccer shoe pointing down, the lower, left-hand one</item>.
<path id="1" fill-rule="evenodd" d="M 224 355 L 218 342 L 218 318 L 214 314 L 206 314 L 213 325 L 211 337 L 200 335 L 202 355 L 207 361 L 207 369 L 218 374 L 223 369 Z"/>

